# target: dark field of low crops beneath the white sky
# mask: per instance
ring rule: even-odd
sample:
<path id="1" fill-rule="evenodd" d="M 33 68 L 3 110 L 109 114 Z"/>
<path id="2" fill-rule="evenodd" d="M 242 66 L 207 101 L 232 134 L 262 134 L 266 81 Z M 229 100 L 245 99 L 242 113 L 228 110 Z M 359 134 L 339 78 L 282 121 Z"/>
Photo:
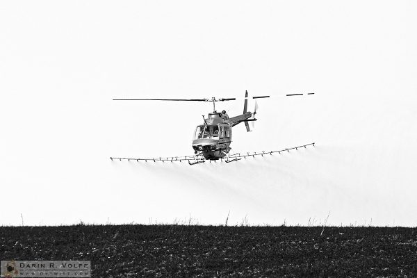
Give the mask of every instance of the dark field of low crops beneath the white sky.
<path id="1" fill-rule="evenodd" d="M 417 229 L 0 227 L 1 260 L 84 260 L 92 277 L 417 277 Z"/>

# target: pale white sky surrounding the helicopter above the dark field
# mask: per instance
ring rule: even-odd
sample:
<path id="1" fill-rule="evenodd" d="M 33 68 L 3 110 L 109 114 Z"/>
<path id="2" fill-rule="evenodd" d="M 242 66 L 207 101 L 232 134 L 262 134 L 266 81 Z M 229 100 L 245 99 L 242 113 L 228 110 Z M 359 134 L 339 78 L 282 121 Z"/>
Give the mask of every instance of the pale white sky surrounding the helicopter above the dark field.
<path id="1" fill-rule="evenodd" d="M 1 1 L 0 224 L 417 224 L 416 1 Z M 211 104 L 259 101 L 238 163 L 193 154 Z M 285 98 L 286 93 L 316 92 Z M 252 110 L 254 104 L 250 104 Z M 167 165 L 166 165 L 167 164 Z"/>

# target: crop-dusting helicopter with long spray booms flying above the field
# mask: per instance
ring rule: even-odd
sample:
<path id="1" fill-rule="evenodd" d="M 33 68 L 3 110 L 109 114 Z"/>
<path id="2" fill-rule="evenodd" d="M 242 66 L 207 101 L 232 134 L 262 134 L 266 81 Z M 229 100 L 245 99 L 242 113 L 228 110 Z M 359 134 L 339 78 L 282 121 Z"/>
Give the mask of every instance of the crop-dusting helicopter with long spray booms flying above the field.
<path id="1" fill-rule="evenodd" d="M 314 93 L 308 93 L 306 95 L 313 95 Z M 287 96 L 295 96 L 295 95 L 304 95 L 304 94 L 292 94 Z M 270 96 L 259 96 L 259 97 L 252 97 L 253 99 L 263 99 L 268 98 Z M 240 124 L 241 122 L 245 123 L 246 130 L 249 132 L 250 126 L 249 122 L 254 122 L 256 119 L 256 110 L 258 109 L 257 101 L 255 101 L 254 112 L 247 111 L 247 99 L 248 93 L 245 92 L 245 102 L 243 105 L 243 114 L 237 115 L 235 117 L 229 117 L 226 111 L 218 112 L 215 110 L 215 103 L 218 101 L 232 101 L 236 100 L 236 98 L 228 98 L 228 99 L 215 99 L 212 97 L 211 99 L 113 99 L 113 100 L 129 100 L 129 101 L 206 101 L 206 102 L 213 102 L 213 113 L 208 113 L 208 117 L 203 117 L 203 124 L 199 124 L 195 129 L 194 138 L 193 138 L 193 149 L 194 149 L 194 156 L 172 156 L 172 157 L 154 157 L 154 158 L 115 158 L 128 161 L 188 161 L 188 164 L 195 165 L 198 163 L 204 163 L 205 161 L 225 161 L 227 163 L 238 161 L 242 158 L 247 158 L 249 156 L 263 156 L 265 154 L 272 155 L 273 153 L 281 153 L 281 152 L 289 152 L 291 149 L 298 149 L 301 147 L 306 147 L 309 145 L 314 145 L 314 143 L 310 143 L 307 145 L 302 145 L 293 148 L 286 148 L 281 149 L 279 151 L 270 151 L 270 152 L 261 152 L 261 153 L 247 153 L 247 154 L 229 154 L 231 151 L 231 138 L 232 138 L 232 129 L 234 126 Z"/>

